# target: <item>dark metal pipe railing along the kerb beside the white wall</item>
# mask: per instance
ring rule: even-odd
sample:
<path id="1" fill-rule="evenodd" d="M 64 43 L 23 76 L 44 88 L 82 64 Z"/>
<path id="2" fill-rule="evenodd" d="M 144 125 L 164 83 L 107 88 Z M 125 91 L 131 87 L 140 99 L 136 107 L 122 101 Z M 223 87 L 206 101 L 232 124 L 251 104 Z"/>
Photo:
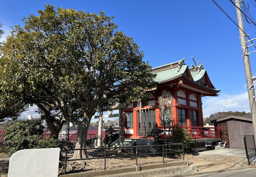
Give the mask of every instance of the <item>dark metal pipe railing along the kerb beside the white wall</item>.
<path id="1" fill-rule="evenodd" d="M 177 149 L 171 149 L 172 146 L 182 146 L 182 150 Z M 138 153 L 138 148 L 145 147 L 158 147 L 156 149 L 161 149 L 161 152 L 152 152 L 152 153 Z M 160 148 L 159 148 L 160 147 Z M 135 154 L 131 153 L 128 155 L 116 155 L 115 156 L 107 156 L 107 150 L 110 148 L 119 148 L 119 149 L 127 149 L 127 148 L 133 148 L 135 149 Z M 89 158 L 81 158 L 81 159 L 67 159 L 67 152 L 70 151 L 78 151 L 78 150 L 93 150 L 93 149 L 100 149 L 104 151 L 104 157 L 89 157 Z M 76 161 L 76 160 L 91 160 L 91 159 L 104 159 L 104 170 L 106 170 L 106 160 L 111 158 L 117 158 L 117 157 L 134 157 L 136 158 L 136 166 L 138 166 L 138 156 L 142 155 L 163 155 L 163 163 L 165 163 L 165 155 L 167 158 L 167 154 L 171 153 L 182 153 L 183 160 L 184 160 L 184 144 L 182 143 L 166 143 L 166 144 L 160 144 L 160 145 L 140 145 L 140 146 L 122 146 L 122 147 L 95 147 L 95 148 L 81 148 L 81 149 L 65 149 L 60 151 L 60 157 L 62 152 L 65 152 L 65 159 L 62 160 L 60 158 L 61 162 L 65 162 L 64 164 L 64 175 L 66 174 L 66 168 L 67 168 L 67 162 L 70 161 Z"/>

